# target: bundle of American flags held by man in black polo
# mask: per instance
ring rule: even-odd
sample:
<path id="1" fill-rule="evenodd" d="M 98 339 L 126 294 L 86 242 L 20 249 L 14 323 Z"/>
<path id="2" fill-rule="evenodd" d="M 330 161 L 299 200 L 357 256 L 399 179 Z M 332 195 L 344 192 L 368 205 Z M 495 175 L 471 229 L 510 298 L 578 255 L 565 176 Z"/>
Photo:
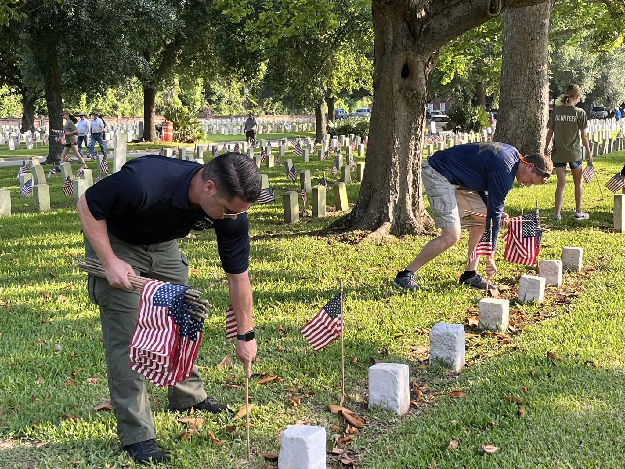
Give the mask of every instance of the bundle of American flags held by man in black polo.
<path id="1" fill-rule="evenodd" d="M 174 386 L 191 375 L 202 341 L 203 320 L 187 313 L 189 287 L 148 280 L 141 289 L 137 325 L 129 346 L 131 368 L 156 386 Z"/>

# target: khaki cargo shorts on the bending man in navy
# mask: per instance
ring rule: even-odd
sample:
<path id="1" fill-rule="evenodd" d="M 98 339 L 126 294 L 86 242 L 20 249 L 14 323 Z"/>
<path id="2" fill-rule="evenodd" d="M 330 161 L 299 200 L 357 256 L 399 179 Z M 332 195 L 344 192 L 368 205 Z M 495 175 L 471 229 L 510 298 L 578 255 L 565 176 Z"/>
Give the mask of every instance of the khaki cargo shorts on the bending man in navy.
<path id="1" fill-rule="evenodd" d="M 486 204 L 476 191 L 467 191 L 450 183 L 427 162 L 421 164 L 421 179 L 436 228 L 460 226 L 460 219 L 469 216 L 466 210 L 486 216 Z"/>

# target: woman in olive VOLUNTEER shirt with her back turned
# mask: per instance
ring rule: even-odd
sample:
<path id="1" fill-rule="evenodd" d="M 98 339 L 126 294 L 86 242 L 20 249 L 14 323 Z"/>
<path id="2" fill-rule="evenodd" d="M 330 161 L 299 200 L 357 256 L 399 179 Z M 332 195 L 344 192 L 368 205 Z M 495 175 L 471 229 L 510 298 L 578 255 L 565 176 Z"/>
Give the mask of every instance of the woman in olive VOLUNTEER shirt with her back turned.
<path id="1" fill-rule="evenodd" d="M 579 144 L 579 134 L 581 133 L 582 143 L 586 148 L 588 162 L 592 163 L 592 153 L 590 144 L 586 136 L 587 118 L 586 111 L 577 108 L 581 98 L 581 89 L 577 84 L 569 85 L 566 93 L 562 96 L 562 104 L 556 106 L 549 121 L 547 121 L 547 141 L 545 143 L 545 153 L 548 153 L 549 143 L 553 138 L 553 149 L 551 159 L 557 176 L 556 186 L 556 214 L 552 221 L 562 219 L 562 198 L 564 196 L 564 186 L 566 185 L 566 164 L 571 167 L 571 176 L 575 184 L 575 214 L 576 221 L 587 220 L 589 215 L 582 211 L 582 148 Z"/>

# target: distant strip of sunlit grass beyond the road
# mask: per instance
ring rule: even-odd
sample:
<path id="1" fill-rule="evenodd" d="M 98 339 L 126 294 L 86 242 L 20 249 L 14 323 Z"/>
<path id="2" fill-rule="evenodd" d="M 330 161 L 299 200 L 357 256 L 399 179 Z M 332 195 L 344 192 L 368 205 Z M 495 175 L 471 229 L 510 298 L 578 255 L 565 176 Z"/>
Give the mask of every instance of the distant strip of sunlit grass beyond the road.
<path id="1" fill-rule="evenodd" d="M 260 134 L 258 138 L 264 139 L 281 139 L 284 137 L 287 138 L 314 138 L 314 132 L 292 132 L 292 133 L 271 133 L 271 134 Z M 211 143 L 222 143 L 222 142 L 234 142 L 234 141 L 245 141 L 244 135 L 221 135 L 221 134 L 208 134 L 207 138 L 202 141 L 202 145 L 207 145 Z M 156 149 L 164 146 L 165 148 L 176 147 L 176 146 L 192 146 L 191 143 L 169 143 L 169 142 L 148 142 L 148 143 L 128 143 L 128 150 L 148 150 L 148 149 Z M 96 150 L 99 151 L 99 146 L 96 144 Z M 47 146 L 37 146 L 37 148 L 26 149 L 24 143 L 20 144 L 20 148 L 15 149 L 13 151 L 9 151 L 6 148 L 0 148 L 0 158 L 30 158 L 32 156 L 47 156 L 48 147 Z M 83 147 L 83 153 L 86 150 Z M 107 151 L 113 151 L 113 147 L 107 148 Z"/>

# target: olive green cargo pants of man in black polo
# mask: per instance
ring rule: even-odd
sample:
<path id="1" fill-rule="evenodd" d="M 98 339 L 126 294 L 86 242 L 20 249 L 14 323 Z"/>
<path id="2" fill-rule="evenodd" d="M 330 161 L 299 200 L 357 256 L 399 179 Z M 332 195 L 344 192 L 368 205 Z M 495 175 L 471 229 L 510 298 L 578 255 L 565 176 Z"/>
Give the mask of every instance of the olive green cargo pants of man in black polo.
<path id="1" fill-rule="evenodd" d="M 189 261 L 176 240 L 156 245 L 131 245 L 109 233 L 118 258 L 133 266 L 137 275 L 187 285 Z M 96 258 L 87 238 L 87 257 Z M 154 421 L 143 375 L 131 370 L 128 347 L 137 323 L 139 290 L 113 288 L 106 278 L 89 275 L 89 298 L 100 307 L 106 368 L 113 411 L 122 446 L 154 438 Z M 169 388 L 169 405 L 187 408 L 206 399 L 202 378 L 194 366 L 187 380 Z"/>

